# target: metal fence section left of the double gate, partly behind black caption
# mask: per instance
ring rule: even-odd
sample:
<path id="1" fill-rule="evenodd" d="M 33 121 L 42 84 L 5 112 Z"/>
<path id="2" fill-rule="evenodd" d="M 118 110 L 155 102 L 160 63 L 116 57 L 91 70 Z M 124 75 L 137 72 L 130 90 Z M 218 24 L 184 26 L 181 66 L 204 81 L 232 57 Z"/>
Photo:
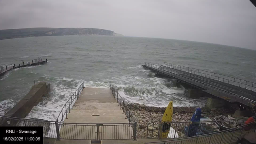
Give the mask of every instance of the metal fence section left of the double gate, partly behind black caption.
<path id="1" fill-rule="evenodd" d="M 56 125 L 57 122 L 48 120 L 0 116 L 0 126 L 43 126 L 44 137 L 47 138 L 57 138 Z"/>

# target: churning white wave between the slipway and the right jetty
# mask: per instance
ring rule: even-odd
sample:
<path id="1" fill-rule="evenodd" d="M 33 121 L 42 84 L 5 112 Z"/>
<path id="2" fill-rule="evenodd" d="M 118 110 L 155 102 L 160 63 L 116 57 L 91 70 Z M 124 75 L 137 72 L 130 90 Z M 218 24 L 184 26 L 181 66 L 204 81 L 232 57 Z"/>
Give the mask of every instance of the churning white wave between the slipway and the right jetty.
<path id="1" fill-rule="evenodd" d="M 141 69 L 144 73 L 141 77 L 138 74 L 128 74 L 115 77 L 109 81 L 114 84 L 119 94 L 129 102 L 136 102 L 148 106 L 166 107 L 170 101 L 174 106 L 204 106 L 206 98 L 187 98 L 184 87 L 174 87 L 172 79 L 156 78 L 149 70 Z M 104 80 L 102 80 L 104 81 Z M 109 81 L 89 81 L 86 87 L 109 88 Z"/>

